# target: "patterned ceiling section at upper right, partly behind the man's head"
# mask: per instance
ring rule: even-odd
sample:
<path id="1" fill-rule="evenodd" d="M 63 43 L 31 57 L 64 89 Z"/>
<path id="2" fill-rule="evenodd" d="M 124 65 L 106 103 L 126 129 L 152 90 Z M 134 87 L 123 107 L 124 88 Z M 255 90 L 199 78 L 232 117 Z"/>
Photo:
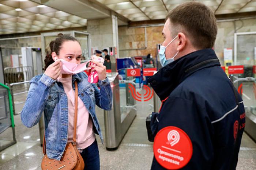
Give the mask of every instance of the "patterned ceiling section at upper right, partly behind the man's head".
<path id="1" fill-rule="evenodd" d="M 167 12 L 190 0 L 97 0 L 131 21 L 162 19 Z M 256 0 L 197 0 L 215 14 L 256 11 Z M 247 4 L 248 3 L 248 4 Z M 167 9 L 166 9 L 167 8 Z M 148 13 L 150 12 L 150 13 Z M 141 15 L 139 15 L 140 13 Z M 143 16 L 144 15 L 144 16 Z M 138 16 L 138 17 L 137 17 Z M 148 17 L 149 18 L 148 18 Z M 165 16 L 165 17 L 164 17 Z"/>

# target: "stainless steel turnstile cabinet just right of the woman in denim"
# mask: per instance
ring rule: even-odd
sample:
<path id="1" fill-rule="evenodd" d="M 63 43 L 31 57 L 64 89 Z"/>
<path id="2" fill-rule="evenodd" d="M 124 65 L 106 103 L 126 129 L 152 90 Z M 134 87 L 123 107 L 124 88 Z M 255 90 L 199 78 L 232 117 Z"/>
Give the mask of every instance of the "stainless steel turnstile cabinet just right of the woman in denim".
<path id="1" fill-rule="evenodd" d="M 111 111 L 104 111 L 105 141 L 107 150 L 116 150 L 137 114 L 136 101 L 130 93 L 126 93 L 125 105 L 121 105 L 120 100 L 124 98 L 121 98 L 120 94 L 123 96 L 122 94 L 125 93 L 123 91 L 127 90 L 128 84 L 120 93 L 118 73 L 108 73 L 107 77 L 113 93 L 113 106 Z"/>

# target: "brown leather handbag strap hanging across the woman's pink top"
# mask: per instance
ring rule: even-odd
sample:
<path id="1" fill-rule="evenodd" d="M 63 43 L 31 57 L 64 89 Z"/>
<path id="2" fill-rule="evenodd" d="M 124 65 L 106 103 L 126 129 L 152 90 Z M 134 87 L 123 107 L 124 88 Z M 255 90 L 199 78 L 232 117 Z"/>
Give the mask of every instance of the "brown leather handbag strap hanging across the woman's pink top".
<path id="1" fill-rule="evenodd" d="M 78 112 L 78 86 L 75 81 L 75 115 L 74 115 L 74 136 L 73 136 L 73 144 L 76 145 L 76 123 L 77 123 L 77 112 Z M 46 141 L 45 134 L 43 140 L 43 153 L 46 154 Z"/>

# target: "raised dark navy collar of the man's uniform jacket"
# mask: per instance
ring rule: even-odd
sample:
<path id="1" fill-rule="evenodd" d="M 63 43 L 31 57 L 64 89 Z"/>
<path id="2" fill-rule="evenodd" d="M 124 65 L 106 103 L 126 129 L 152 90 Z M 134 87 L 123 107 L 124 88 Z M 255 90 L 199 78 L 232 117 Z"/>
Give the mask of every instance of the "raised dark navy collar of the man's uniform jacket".
<path id="1" fill-rule="evenodd" d="M 160 99 L 164 100 L 192 73 L 206 67 L 220 65 L 214 50 L 194 51 L 162 67 L 154 76 L 148 78 L 148 82 Z"/>

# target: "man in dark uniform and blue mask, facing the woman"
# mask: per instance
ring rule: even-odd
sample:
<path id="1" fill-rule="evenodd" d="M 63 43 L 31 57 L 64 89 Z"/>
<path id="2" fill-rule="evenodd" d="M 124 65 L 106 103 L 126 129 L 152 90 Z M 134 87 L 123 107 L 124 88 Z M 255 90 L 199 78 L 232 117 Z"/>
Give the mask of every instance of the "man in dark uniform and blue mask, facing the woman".
<path id="1" fill-rule="evenodd" d="M 212 50 L 214 13 L 192 1 L 166 17 L 162 69 L 150 77 L 162 100 L 152 114 L 152 170 L 235 170 L 245 125 L 243 101 Z"/>

